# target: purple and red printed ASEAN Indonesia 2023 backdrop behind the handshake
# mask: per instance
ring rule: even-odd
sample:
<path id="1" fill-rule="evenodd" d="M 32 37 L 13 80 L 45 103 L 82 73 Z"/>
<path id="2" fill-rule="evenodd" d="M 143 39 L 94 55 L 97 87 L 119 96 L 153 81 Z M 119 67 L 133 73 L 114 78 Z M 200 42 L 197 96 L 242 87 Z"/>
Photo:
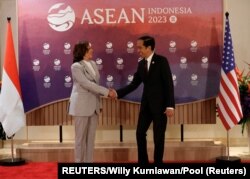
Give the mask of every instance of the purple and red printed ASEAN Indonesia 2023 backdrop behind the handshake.
<path id="1" fill-rule="evenodd" d="M 101 85 L 131 82 L 136 39 L 149 34 L 170 62 L 177 103 L 217 96 L 222 0 L 18 1 L 19 70 L 25 111 L 63 100 L 72 88 L 74 44 L 88 40 Z M 142 87 L 125 99 L 140 101 Z"/>

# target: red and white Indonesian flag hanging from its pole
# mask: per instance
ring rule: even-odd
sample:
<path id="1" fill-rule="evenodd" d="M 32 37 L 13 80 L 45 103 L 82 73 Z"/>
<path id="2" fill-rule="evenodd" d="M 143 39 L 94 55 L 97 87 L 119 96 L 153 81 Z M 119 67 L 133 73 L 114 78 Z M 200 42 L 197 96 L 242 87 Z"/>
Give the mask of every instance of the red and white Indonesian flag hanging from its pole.
<path id="1" fill-rule="evenodd" d="M 8 18 L 2 89 L 0 92 L 0 122 L 6 135 L 11 137 L 25 126 L 25 118 L 10 18 Z"/>

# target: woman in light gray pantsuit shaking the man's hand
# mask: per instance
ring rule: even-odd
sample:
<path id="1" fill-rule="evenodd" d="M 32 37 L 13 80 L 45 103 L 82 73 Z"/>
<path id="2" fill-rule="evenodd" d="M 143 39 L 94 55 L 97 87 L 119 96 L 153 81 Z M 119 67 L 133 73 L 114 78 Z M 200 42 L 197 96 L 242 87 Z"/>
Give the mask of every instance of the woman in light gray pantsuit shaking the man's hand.
<path id="1" fill-rule="evenodd" d="M 69 114 L 75 122 L 75 162 L 92 163 L 100 96 L 110 96 L 112 92 L 99 85 L 100 74 L 91 60 L 93 49 L 89 42 L 76 44 L 73 56 Z"/>

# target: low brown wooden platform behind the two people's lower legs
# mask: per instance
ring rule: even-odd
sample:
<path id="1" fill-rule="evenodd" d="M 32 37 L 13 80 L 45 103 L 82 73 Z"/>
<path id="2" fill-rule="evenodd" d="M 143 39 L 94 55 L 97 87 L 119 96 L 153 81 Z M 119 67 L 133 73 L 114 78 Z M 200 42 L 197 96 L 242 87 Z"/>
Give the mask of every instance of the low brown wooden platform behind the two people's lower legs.
<path id="1" fill-rule="evenodd" d="M 148 145 L 152 161 L 153 144 Z M 164 161 L 215 161 L 226 155 L 226 147 L 213 141 L 166 142 Z M 56 142 L 31 142 L 16 146 L 16 156 L 34 162 L 74 162 L 74 144 Z M 137 147 L 134 142 L 97 142 L 95 162 L 136 162 Z"/>

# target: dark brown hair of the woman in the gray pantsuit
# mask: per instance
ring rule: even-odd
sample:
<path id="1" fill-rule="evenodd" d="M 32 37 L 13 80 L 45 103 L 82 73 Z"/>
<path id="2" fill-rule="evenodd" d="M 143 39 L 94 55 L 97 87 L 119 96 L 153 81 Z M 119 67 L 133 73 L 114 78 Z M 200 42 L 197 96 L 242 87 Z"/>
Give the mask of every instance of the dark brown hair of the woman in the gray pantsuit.
<path id="1" fill-rule="evenodd" d="M 84 55 L 88 52 L 88 48 L 89 48 L 88 41 L 77 43 L 73 50 L 73 63 L 81 61 Z"/>

